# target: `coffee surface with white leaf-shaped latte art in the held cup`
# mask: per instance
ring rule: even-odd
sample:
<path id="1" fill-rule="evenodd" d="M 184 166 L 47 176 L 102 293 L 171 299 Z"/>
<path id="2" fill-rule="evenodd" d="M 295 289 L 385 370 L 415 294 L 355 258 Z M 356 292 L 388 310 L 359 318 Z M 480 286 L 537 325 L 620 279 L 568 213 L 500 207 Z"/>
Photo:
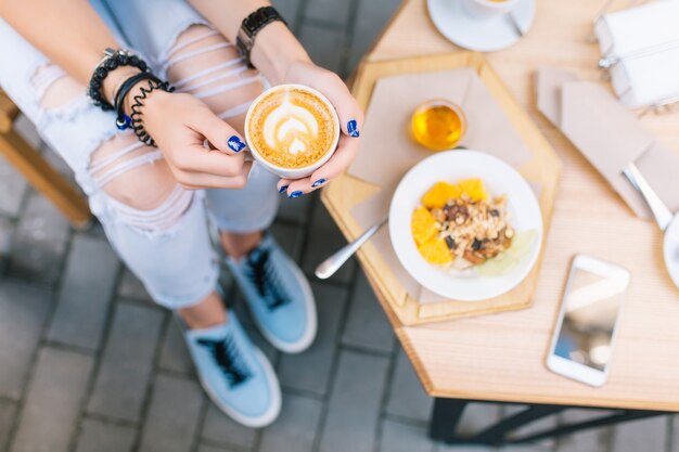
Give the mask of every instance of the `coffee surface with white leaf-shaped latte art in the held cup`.
<path id="1" fill-rule="evenodd" d="M 248 133 L 256 151 L 273 165 L 303 168 L 334 144 L 337 125 L 330 107 L 303 89 L 273 90 L 254 106 Z"/>

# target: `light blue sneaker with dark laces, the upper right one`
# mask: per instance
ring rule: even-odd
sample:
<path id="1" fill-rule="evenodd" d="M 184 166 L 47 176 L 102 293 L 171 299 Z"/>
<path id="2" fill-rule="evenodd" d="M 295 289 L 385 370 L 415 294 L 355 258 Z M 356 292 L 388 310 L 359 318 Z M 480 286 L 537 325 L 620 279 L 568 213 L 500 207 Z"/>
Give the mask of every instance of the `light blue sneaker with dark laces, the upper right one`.
<path id="1" fill-rule="evenodd" d="M 273 347 L 298 353 L 316 338 L 316 301 L 299 267 L 271 234 L 247 257 L 227 264 L 249 306 L 255 324 Z"/>

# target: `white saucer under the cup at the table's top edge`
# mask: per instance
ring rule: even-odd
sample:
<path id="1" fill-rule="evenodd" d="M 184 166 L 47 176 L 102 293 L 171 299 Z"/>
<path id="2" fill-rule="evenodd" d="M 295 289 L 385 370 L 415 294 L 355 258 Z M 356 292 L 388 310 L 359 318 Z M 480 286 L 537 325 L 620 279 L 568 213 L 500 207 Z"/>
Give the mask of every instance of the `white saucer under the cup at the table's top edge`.
<path id="1" fill-rule="evenodd" d="M 516 25 L 509 15 L 476 18 L 464 11 L 460 0 L 427 0 L 427 10 L 434 25 L 447 39 L 469 50 L 494 52 L 512 46 L 530 28 L 535 18 L 536 0 L 520 0 L 512 11 Z"/>

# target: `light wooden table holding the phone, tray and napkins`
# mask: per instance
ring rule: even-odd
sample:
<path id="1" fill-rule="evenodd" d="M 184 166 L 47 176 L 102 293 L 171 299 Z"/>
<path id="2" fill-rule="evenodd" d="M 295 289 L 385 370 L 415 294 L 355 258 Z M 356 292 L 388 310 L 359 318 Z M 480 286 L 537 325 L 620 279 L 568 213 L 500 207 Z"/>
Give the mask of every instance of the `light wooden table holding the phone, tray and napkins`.
<path id="1" fill-rule="evenodd" d="M 650 411 L 627 413 L 632 416 L 679 411 L 679 289 L 663 264 L 661 232 L 653 222 L 636 218 L 536 108 L 533 73 L 541 65 L 566 68 L 603 83 L 595 67 L 598 47 L 587 41 L 602 4 L 603 0 L 538 0 L 536 22 L 527 36 L 510 49 L 486 55 L 564 164 L 533 307 L 403 326 L 389 312 L 384 294 L 376 290 L 425 390 L 439 398 L 435 437 L 452 439 L 441 429 L 440 419 L 443 415 L 459 417 L 461 405 L 448 399 L 535 404 L 525 419 L 536 417 L 540 410 L 556 411 L 554 405 Z M 366 61 L 456 49 L 434 28 L 425 1 L 407 0 Z M 679 152 L 678 119 L 675 113 L 650 114 L 641 120 L 661 142 Z M 342 196 L 342 185 L 350 183 L 348 177 L 344 179 L 323 193 L 326 204 Z M 360 232 L 347 225 L 342 212 L 333 215 L 347 238 Z M 578 253 L 617 262 L 632 273 L 610 378 L 602 388 L 554 375 L 545 365 L 568 266 Z M 359 259 L 367 263 L 366 255 Z"/>

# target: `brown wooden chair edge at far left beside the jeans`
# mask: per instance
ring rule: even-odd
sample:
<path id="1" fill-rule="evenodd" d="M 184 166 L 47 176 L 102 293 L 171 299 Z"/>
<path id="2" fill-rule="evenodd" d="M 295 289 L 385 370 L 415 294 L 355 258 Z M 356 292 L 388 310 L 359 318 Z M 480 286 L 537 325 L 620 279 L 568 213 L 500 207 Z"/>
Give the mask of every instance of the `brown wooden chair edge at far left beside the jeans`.
<path id="1" fill-rule="evenodd" d="M 91 214 L 85 196 L 14 130 L 18 114 L 18 107 L 0 90 L 0 155 L 50 199 L 75 228 L 86 228 Z"/>

